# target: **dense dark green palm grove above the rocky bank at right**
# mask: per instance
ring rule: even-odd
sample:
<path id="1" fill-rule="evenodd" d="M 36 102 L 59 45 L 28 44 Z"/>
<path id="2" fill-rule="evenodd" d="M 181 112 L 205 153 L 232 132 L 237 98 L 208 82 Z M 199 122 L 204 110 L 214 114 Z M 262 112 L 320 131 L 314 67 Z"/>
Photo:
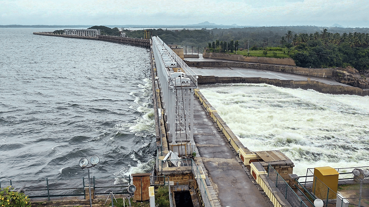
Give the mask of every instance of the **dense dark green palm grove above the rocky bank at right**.
<path id="1" fill-rule="evenodd" d="M 321 32 L 293 34 L 280 37 L 289 55 L 300 67 L 327 68 L 352 66 L 364 72 L 369 69 L 369 34 L 360 32 Z"/>

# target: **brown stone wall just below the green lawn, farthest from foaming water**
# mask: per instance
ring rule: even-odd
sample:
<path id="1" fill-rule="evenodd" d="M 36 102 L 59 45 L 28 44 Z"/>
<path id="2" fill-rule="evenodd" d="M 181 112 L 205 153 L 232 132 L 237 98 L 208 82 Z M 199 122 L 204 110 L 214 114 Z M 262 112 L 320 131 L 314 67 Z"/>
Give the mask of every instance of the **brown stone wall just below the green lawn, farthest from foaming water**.
<path id="1" fill-rule="evenodd" d="M 203 53 L 203 57 L 221 59 L 221 60 L 233 60 L 241 62 L 253 62 L 253 63 L 266 63 L 266 64 L 281 64 L 294 66 L 295 61 L 291 58 L 273 58 L 273 57 L 251 57 L 243 55 L 230 55 L 225 53 Z"/>

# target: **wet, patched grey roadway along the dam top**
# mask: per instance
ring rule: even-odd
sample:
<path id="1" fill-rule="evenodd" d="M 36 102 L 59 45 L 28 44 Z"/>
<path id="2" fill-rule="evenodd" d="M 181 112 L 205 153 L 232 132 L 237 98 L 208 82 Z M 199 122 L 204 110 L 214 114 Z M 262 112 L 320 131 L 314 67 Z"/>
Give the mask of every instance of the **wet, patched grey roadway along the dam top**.
<path id="1" fill-rule="evenodd" d="M 197 98 L 194 99 L 194 140 L 220 206 L 273 207 L 249 178 L 246 167 L 241 166 Z"/>

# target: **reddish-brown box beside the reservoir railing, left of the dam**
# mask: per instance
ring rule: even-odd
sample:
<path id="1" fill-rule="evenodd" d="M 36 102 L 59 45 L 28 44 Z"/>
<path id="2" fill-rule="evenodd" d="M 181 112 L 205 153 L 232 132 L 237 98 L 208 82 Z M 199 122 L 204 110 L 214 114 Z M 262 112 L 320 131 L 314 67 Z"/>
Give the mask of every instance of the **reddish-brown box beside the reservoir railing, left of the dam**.
<path id="1" fill-rule="evenodd" d="M 144 201 L 150 199 L 150 175 L 151 173 L 131 174 L 131 176 L 133 177 L 133 185 L 136 186 L 136 192 L 134 194 L 133 200 Z"/>

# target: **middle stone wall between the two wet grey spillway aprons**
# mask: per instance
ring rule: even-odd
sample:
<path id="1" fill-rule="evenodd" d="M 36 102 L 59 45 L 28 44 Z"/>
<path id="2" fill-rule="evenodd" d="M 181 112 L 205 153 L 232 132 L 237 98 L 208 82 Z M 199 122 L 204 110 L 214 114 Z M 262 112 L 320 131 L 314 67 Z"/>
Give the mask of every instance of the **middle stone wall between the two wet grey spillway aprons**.
<path id="1" fill-rule="evenodd" d="M 258 70 L 271 70 L 283 73 L 292 73 L 302 76 L 313 77 L 330 77 L 334 70 L 332 69 L 313 69 L 297 66 L 277 66 L 270 64 L 258 64 L 258 63 L 239 63 L 239 62 L 221 62 L 221 61 L 203 61 L 203 62 L 190 62 L 184 61 L 188 66 L 193 67 L 239 67 Z"/>

